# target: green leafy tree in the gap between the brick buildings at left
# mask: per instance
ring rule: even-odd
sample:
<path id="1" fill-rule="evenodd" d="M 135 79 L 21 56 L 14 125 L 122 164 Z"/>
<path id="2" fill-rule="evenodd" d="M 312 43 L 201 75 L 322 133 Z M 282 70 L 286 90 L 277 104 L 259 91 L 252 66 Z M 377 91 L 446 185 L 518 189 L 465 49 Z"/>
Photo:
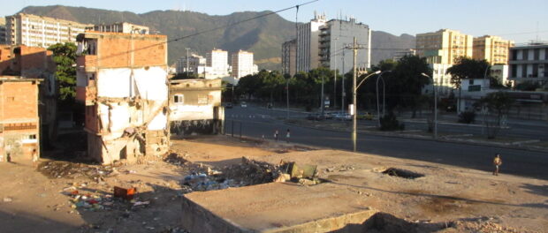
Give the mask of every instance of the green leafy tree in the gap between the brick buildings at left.
<path id="1" fill-rule="evenodd" d="M 53 52 L 53 61 L 57 64 L 55 77 L 59 86 L 59 100 L 74 101 L 76 91 L 76 45 L 71 42 L 49 46 Z"/>

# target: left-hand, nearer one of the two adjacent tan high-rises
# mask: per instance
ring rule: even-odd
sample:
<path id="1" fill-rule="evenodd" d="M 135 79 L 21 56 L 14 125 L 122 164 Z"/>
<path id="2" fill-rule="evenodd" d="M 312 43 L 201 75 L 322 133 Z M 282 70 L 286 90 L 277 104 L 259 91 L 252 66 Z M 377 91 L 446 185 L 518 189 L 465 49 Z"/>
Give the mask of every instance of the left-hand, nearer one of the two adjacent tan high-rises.
<path id="1" fill-rule="evenodd" d="M 460 56 L 472 57 L 473 37 L 459 31 L 416 34 L 416 55 L 426 57 L 428 64 L 454 64 Z"/>

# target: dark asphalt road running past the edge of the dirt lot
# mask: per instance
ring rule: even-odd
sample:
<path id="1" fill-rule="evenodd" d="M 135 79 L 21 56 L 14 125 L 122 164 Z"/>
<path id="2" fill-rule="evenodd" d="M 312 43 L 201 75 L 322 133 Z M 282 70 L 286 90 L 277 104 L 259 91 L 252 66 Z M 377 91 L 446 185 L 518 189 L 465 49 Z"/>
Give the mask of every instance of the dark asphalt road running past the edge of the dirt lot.
<path id="1" fill-rule="evenodd" d="M 280 119 L 285 117 L 285 114 L 281 111 L 252 106 L 248 108 L 235 106 L 233 109 L 226 109 L 225 111 L 226 133 L 232 134 L 234 132 L 234 136 L 239 136 L 241 128 L 241 134 L 244 136 L 257 139 L 264 136 L 265 139 L 273 139 L 274 132 L 278 130 L 280 132 L 280 143 L 284 143 L 285 132 L 290 129 L 292 142 L 316 147 L 352 150 L 353 146 L 349 132 L 323 131 L 298 125 L 287 125 Z M 301 113 L 293 112 L 290 114 L 290 117 L 304 116 Z M 463 132 L 467 132 L 466 129 L 460 127 Z M 548 179 L 548 153 L 543 152 L 474 146 L 428 139 L 403 139 L 364 133 L 358 134 L 357 145 L 358 151 L 368 154 L 438 162 L 490 172 L 493 169 L 492 159 L 494 154 L 500 153 L 503 159 L 501 173 Z"/>

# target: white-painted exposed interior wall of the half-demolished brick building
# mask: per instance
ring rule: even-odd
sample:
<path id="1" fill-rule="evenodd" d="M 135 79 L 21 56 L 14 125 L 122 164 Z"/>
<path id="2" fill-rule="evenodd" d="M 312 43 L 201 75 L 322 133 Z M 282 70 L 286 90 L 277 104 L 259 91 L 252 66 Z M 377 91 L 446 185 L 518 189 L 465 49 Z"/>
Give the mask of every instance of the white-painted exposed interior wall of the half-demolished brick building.
<path id="1" fill-rule="evenodd" d="M 95 105 L 87 107 L 86 129 L 100 137 L 92 139 L 93 144 L 88 149 L 90 156 L 100 158 L 103 163 L 135 162 L 144 155 L 167 152 L 165 67 L 99 69 L 96 89 Z M 100 140 L 100 145 L 95 140 Z M 97 146 L 103 149 L 93 148 Z"/>

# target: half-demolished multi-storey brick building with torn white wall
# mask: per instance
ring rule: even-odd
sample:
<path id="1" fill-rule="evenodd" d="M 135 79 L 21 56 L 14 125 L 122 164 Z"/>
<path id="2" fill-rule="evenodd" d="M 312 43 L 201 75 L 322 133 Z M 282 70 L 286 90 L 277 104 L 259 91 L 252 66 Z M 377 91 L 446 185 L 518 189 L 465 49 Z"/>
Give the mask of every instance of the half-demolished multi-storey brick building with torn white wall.
<path id="1" fill-rule="evenodd" d="M 85 104 L 88 156 L 136 162 L 169 148 L 167 37 L 80 34 L 76 99 Z"/>

